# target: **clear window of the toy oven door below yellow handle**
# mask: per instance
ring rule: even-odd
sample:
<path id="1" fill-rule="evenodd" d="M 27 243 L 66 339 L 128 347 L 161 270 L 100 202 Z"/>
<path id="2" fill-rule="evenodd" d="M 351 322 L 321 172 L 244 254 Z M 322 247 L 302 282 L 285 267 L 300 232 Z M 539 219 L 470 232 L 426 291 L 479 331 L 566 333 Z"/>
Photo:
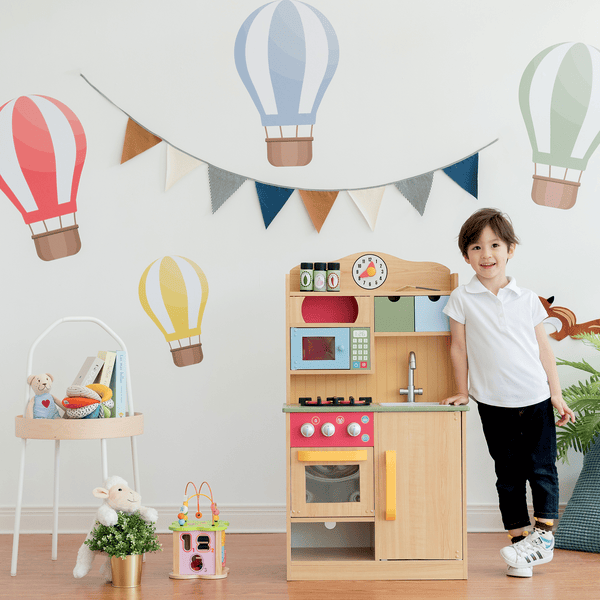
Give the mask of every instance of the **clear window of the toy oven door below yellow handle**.
<path id="1" fill-rule="evenodd" d="M 360 502 L 359 465 L 307 465 L 304 476 L 307 504 Z"/>

